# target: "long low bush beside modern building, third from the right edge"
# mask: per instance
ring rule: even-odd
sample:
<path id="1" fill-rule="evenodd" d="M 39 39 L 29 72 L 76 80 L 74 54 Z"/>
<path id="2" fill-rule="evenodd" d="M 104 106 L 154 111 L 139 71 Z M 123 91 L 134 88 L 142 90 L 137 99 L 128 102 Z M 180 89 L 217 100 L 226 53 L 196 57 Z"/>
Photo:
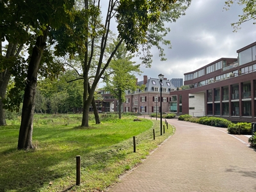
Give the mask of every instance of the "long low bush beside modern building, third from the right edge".
<path id="1" fill-rule="evenodd" d="M 225 118 L 213 117 L 213 116 L 203 116 L 199 119 L 198 123 L 203 125 L 210 125 L 214 127 L 228 127 L 228 125 L 231 124 L 231 122 Z"/>

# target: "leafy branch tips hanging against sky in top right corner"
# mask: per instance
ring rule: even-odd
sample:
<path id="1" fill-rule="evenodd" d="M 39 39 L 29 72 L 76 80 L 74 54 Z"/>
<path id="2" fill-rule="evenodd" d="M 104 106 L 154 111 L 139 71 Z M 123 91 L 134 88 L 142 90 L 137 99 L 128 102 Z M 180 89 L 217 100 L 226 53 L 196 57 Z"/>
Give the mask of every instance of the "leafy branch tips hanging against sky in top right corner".
<path id="1" fill-rule="evenodd" d="M 244 6 L 243 15 L 239 15 L 240 17 L 239 20 L 231 24 L 231 26 L 234 28 L 234 31 L 236 32 L 238 29 L 241 29 L 240 26 L 244 22 L 247 22 L 248 20 L 256 20 L 256 1 L 255 0 L 238 0 L 238 1 L 228 0 L 228 1 L 225 1 L 225 9 L 229 10 L 229 8 L 234 3 Z M 253 22 L 253 24 L 256 24 L 256 22 Z"/>

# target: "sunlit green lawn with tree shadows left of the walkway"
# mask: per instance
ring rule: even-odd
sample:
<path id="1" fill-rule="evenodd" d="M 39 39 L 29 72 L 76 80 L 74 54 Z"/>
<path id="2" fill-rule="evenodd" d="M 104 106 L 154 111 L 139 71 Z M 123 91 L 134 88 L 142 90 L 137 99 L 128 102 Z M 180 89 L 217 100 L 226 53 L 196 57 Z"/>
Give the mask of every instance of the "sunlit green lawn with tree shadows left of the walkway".
<path id="1" fill-rule="evenodd" d="M 159 136 L 156 120 L 102 118 L 102 124 L 84 129 L 81 115 L 36 115 L 37 148 L 28 151 L 17 150 L 19 119 L 0 127 L 0 191 L 102 191 L 173 134 L 169 126 Z M 76 156 L 81 156 L 81 186 L 76 186 Z"/>

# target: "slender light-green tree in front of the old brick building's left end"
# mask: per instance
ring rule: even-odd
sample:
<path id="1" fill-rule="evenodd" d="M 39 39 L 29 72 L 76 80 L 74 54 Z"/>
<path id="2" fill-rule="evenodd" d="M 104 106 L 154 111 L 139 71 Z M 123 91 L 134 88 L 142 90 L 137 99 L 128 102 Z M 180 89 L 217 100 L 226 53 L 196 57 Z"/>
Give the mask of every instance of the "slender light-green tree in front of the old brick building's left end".
<path id="1" fill-rule="evenodd" d="M 121 106 L 125 101 L 126 90 L 136 90 L 136 76 L 140 74 L 140 65 L 131 61 L 133 55 L 127 51 L 125 45 L 120 45 L 115 58 L 109 65 L 110 73 L 104 77 L 105 90 L 118 99 L 118 118 L 121 118 Z"/>

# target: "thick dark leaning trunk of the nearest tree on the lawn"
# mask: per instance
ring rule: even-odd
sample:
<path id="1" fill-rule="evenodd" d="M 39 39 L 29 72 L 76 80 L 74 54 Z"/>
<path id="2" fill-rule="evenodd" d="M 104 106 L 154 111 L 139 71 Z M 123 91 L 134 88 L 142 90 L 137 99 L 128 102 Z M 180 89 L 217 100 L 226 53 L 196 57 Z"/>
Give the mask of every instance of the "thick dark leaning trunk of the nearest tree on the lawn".
<path id="1" fill-rule="evenodd" d="M 27 86 L 25 88 L 22 118 L 20 123 L 18 149 L 33 148 L 32 133 L 33 133 L 33 117 L 35 112 L 35 92 L 37 73 L 42 54 L 45 49 L 48 29 L 44 31 L 44 36 L 38 36 L 36 45 L 33 47 L 31 60 L 28 66 Z"/>

